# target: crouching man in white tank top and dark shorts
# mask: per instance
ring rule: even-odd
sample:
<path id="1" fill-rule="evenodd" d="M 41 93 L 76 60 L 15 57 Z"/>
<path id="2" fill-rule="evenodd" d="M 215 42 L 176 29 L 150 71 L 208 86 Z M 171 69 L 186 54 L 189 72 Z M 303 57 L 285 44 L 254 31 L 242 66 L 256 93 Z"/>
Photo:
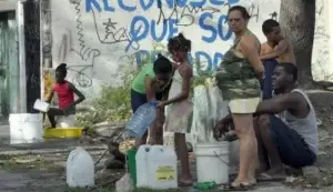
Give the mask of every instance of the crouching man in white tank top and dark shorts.
<path id="1" fill-rule="evenodd" d="M 258 138 L 260 180 L 284 179 L 283 164 L 293 168 L 312 165 L 317 155 L 316 117 L 306 93 L 296 89 L 297 69 L 279 63 L 273 72 L 275 97 L 256 108 L 254 128 Z M 215 127 L 215 138 L 226 132 L 228 115 Z"/>

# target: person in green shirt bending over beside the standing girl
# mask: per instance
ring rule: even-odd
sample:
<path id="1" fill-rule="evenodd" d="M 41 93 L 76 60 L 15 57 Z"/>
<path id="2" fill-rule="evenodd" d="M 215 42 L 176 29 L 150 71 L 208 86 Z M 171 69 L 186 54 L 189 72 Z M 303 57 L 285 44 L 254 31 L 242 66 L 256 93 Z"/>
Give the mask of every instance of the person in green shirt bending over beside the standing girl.
<path id="1" fill-rule="evenodd" d="M 168 92 L 171 84 L 173 67 L 171 61 L 163 57 L 162 54 L 158 55 L 158 59 L 154 63 L 149 63 L 142 67 L 139 74 L 135 77 L 132 83 L 131 90 L 131 105 L 133 113 L 144 103 L 157 100 L 167 100 Z M 163 118 L 164 110 L 158 110 L 157 121 L 154 124 L 163 124 L 161 121 Z M 159 128 L 155 128 L 159 129 Z M 161 127 L 162 129 L 162 127 Z M 152 130 L 153 132 L 163 130 Z M 153 133 L 153 138 L 157 133 Z M 137 145 L 145 144 L 148 132 L 143 134 L 141 140 L 137 140 Z M 162 139 L 161 139 L 162 140 Z M 153 141 L 162 144 L 161 141 Z M 157 143 L 155 143 L 157 144 Z"/>

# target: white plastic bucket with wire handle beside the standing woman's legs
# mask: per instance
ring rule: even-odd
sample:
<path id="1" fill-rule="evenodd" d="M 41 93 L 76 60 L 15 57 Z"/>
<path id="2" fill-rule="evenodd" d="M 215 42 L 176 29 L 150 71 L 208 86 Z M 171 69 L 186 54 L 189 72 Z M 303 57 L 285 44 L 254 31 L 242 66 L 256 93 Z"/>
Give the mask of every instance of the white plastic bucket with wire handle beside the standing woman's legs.
<path id="1" fill-rule="evenodd" d="M 198 182 L 229 183 L 229 142 L 196 143 Z"/>

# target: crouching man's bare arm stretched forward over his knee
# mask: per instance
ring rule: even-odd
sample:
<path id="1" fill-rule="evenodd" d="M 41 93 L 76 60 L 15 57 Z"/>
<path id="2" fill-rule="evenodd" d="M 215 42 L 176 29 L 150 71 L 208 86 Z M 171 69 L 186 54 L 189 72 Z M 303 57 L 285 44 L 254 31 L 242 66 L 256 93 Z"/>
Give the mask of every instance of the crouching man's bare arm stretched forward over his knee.
<path id="1" fill-rule="evenodd" d="M 256 107 L 254 115 L 260 114 L 278 114 L 285 110 L 296 110 L 301 104 L 300 93 L 287 93 L 276 95 L 272 99 L 260 102 Z"/>

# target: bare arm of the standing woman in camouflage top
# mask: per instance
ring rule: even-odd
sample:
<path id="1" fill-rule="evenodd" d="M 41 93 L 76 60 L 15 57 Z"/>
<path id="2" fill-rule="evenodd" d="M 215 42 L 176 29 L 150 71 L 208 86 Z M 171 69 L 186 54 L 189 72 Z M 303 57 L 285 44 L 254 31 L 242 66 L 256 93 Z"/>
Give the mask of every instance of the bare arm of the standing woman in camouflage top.
<path id="1" fill-rule="evenodd" d="M 245 36 L 240 41 L 243 55 L 249 60 L 259 79 L 262 79 L 264 75 L 264 68 L 259 57 L 259 48 L 255 44 L 256 39 L 253 36 Z"/>

